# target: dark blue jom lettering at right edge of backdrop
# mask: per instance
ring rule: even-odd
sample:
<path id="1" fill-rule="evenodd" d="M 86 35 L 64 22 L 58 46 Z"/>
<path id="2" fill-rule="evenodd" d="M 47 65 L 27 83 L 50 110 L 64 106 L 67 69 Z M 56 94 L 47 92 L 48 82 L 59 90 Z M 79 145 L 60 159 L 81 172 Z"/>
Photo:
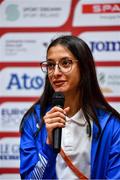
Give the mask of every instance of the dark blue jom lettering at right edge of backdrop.
<path id="1" fill-rule="evenodd" d="M 90 41 L 90 47 L 92 52 L 95 50 L 101 51 L 112 51 L 119 52 L 120 51 L 120 41 Z"/>

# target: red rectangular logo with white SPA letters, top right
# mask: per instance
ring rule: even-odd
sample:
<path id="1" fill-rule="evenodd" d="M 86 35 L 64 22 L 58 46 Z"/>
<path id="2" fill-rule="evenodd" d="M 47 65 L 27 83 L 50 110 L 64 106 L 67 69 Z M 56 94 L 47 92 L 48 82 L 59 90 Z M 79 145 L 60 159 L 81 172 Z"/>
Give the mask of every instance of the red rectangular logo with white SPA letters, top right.
<path id="1" fill-rule="evenodd" d="M 82 13 L 120 13 L 120 4 L 83 4 Z"/>

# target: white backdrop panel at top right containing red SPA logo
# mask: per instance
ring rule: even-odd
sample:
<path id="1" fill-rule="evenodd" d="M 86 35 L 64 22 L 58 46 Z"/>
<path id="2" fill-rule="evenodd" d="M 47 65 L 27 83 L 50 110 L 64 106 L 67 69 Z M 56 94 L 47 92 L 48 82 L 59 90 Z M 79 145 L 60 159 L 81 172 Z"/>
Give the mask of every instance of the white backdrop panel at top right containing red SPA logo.
<path id="1" fill-rule="evenodd" d="M 73 26 L 119 26 L 119 13 L 118 0 L 81 0 L 74 11 Z"/>

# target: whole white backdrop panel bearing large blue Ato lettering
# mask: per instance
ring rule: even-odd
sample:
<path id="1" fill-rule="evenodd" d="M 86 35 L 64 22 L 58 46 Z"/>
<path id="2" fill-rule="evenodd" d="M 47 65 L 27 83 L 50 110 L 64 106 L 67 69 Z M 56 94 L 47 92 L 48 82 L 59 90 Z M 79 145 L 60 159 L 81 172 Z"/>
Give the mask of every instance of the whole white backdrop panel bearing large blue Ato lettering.
<path id="1" fill-rule="evenodd" d="M 43 92 L 45 73 L 40 67 L 4 68 L 0 75 L 2 96 L 40 96 Z"/>

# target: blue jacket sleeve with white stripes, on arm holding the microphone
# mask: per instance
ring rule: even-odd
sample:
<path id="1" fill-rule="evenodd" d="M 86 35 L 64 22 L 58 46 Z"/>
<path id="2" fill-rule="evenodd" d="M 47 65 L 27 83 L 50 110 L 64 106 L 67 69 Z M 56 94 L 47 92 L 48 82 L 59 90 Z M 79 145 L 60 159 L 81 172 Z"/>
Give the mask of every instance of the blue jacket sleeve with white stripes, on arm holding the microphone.
<path id="1" fill-rule="evenodd" d="M 20 174 L 22 179 L 52 179 L 57 154 L 39 140 L 36 143 L 34 116 L 25 120 L 20 138 Z M 34 130 L 33 130 L 34 129 Z"/>

